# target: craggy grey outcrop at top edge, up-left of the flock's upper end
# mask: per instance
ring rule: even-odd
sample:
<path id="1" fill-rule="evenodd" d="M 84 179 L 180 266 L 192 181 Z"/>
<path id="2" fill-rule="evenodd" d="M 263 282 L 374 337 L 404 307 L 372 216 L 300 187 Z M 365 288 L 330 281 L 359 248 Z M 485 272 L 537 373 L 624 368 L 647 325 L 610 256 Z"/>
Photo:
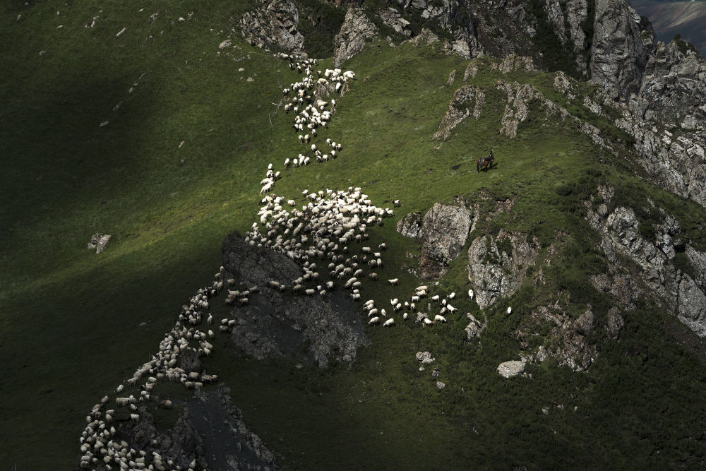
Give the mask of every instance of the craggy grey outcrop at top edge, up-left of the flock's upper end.
<path id="1" fill-rule="evenodd" d="M 251 46 L 305 55 L 304 36 L 297 31 L 297 25 L 299 13 L 289 0 L 265 0 L 240 20 L 243 37 Z"/>

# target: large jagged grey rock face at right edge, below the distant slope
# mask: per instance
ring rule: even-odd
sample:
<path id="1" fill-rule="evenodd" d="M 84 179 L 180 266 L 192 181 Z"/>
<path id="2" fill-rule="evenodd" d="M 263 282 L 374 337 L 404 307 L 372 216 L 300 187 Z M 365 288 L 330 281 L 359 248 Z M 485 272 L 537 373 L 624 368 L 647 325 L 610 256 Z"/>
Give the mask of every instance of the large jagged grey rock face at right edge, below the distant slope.
<path id="1" fill-rule="evenodd" d="M 615 124 L 635 138 L 638 163 L 664 189 L 706 206 L 706 61 L 676 41 L 659 43 L 639 95 L 614 102 L 599 93 L 594 101 L 597 114 L 618 112 Z"/>

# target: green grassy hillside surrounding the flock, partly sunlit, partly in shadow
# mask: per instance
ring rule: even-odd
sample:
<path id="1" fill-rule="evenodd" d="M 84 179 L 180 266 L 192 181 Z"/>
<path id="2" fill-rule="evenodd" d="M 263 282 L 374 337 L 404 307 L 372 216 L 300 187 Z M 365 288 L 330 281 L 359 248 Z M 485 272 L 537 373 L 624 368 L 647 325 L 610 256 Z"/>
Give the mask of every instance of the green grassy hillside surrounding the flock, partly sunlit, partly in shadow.
<path id="1" fill-rule="evenodd" d="M 155 352 L 184 299 L 210 282 L 225 235 L 256 220 L 268 163 L 281 169 L 301 152 L 292 115 L 273 105 L 297 73 L 239 34 L 218 49 L 249 8 L 246 1 L 4 7 L 1 467 L 76 465 L 90 407 Z M 419 250 L 395 232 L 400 217 L 456 195 L 478 201 L 481 190 L 516 202 L 513 213 L 479 234 L 520 230 L 546 249 L 561 230 L 571 236 L 566 263 L 546 291 L 528 284 L 488 309 L 480 343 L 462 341 L 467 322 L 457 316 L 434 330 L 369 329 L 371 345 L 349 369 L 299 371 L 218 350 L 208 369 L 232 388 L 246 422 L 285 467 L 702 463 L 703 357 L 673 340 L 685 328 L 664 313 L 630 313 L 621 340 L 602 346 L 586 374 L 551 362 L 530 369 L 531 380 L 496 374 L 499 362 L 517 356 L 511 333 L 522 315 L 552 290 L 609 305 L 585 282 L 602 269 L 580 203 L 597 184 L 630 188 L 625 196 L 618 191 L 625 201 L 650 196 L 687 230 L 706 215 L 634 177 L 628 162 L 606 157 L 568 123 L 545 125 L 540 110 L 520 124 L 516 138 L 501 136 L 505 95 L 498 79 L 532 83 L 589 116 L 581 100 L 567 103 L 554 91 L 554 75 L 503 76 L 491 70 L 492 61 L 478 61 L 480 72 L 466 82 L 486 93 L 481 119 L 467 119 L 440 146 L 431 136 L 467 61 L 441 55 L 437 45 L 369 44 L 345 64 L 358 81 L 337 100 L 325 133 L 343 143 L 341 157 L 283 172 L 275 192 L 294 197 L 305 188 L 363 186 L 377 205 L 400 199 L 394 220 L 373 233 L 391 247 L 385 275 L 409 263 L 405 251 Z M 330 59 L 320 67 L 326 66 Z M 445 85 L 454 69 L 457 81 Z M 490 148 L 498 168 L 477 174 L 472 164 Z M 113 234 L 100 255 L 85 249 L 98 231 Z M 463 290 L 464 254 L 439 290 Z M 404 272 L 402 278 L 400 289 L 417 284 Z M 371 295 L 390 293 L 381 286 Z M 503 317 L 510 304 L 515 314 Z M 466 300 L 459 308 L 478 314 Z M 436 389 L 429 371 L 417 371 L 418 350 L 433 352 L 445 390 Z"/>

